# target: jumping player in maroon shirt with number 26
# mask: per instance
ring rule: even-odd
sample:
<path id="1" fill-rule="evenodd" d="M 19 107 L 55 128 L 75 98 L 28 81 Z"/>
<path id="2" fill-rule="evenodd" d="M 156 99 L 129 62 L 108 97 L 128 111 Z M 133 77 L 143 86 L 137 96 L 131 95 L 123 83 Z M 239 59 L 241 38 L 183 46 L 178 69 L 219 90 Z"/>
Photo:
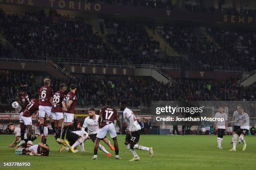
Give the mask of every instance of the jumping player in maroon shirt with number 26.
<path id="1" fill-rule="evenodd" d="M 52 106 L 51 106 L 51 114 L 54 120 L 54 128 L 56 132 L 55 140 L 58 143 L 64 143 L 64 141 L 60 140 L 61 135 L 61 127 L 63 122 L 63 106 L 62 101 L 65 97 L 64 92 L 67 90 L 67 86 L 65 84 L 61 84 L 59 87 L 59 91 L 55 92 L 53 95 Z"/>

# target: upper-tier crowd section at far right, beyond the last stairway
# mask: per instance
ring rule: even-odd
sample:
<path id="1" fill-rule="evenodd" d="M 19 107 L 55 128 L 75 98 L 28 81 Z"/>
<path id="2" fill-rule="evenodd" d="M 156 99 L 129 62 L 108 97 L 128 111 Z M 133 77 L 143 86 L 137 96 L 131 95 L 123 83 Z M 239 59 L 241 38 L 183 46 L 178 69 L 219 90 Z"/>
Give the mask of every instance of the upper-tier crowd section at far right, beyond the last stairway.
<path id="1" fill-rule="evenodd" d="M 220 45 L 220 50 L 228 55 L 222 57 L 231 67 L 246 67 L 255 70 L 256 33 L 244 30 L 222 30 L 208 28 L 210 34 Z"/>

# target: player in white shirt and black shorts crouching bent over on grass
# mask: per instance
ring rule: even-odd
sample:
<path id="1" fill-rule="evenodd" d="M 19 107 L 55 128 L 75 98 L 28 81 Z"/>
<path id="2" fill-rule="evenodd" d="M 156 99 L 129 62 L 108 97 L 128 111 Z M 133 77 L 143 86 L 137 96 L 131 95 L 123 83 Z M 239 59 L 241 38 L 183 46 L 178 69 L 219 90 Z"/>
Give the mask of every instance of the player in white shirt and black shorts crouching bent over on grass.
<path id="1" fill-rule="evenodd" d="M 65 147 L 64 145 L 61 146 L 59 149 L 59 153 L 62 150 L 69 150 L 72 153 L 77 153 L 77 145 L 79 146 L 80 150 L 82 153 L 85 153 L 87 151 L 84 150 L 84 141 L 90 139 L 89 135 L 87 132 L 84 130 L 77 130 L 77 131 L 72 131 L 69 134 L 69 138 L 67 139 L 71 145 L 71 147 Z"/>

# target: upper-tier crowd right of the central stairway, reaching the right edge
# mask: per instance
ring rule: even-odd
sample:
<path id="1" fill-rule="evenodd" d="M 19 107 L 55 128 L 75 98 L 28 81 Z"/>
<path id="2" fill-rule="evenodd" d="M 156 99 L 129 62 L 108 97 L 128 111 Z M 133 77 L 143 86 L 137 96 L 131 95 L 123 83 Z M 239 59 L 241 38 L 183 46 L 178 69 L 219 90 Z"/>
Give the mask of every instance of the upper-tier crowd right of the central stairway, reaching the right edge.
<path id="1" fill-rule="evenodd" d="M 157 26 L 156 31 L 179 53 L 189 54 L 190 62 L 200 69 L 218 66 L 255 70 L 256 33 L 252 31 L 208 28 L 201 37 L 188 27 L 165 25 Z M 217 43 L 208 40 L 207 34 Z"/>

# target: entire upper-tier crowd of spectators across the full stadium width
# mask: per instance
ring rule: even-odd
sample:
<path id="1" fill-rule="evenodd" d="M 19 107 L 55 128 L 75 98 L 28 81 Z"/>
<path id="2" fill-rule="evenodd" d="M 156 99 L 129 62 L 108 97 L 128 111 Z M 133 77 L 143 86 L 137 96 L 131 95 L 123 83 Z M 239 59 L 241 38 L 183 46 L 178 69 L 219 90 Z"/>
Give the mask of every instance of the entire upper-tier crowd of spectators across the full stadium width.
<path id="1" fill-rule="evenodd" d="M 56 57 L 59 60 L 179 64 L 179 60 L 161 55 L 159 42 L 136 22 L 105 20 L 108 30 L 105 42 L 83 18 L 59 15 L 55 10 L 50 10 L 47 16 L 44 11 L 18 15 L 0 10 L 0 25 L 13 47 L 30 59 Z M 212 70 L 214 66 L 255 69 L 256 34 L 253 32 L 208 29 L 205 34 L 210 34 L 218 46 L 206 36 L 199 38 L 189 27 L 154 28 L 179 53 L 189 54 L 192 69 Z M 0 46 L 0 49 L 3 49 L 0 55 L 11 55 L 5 48 Z"/>

